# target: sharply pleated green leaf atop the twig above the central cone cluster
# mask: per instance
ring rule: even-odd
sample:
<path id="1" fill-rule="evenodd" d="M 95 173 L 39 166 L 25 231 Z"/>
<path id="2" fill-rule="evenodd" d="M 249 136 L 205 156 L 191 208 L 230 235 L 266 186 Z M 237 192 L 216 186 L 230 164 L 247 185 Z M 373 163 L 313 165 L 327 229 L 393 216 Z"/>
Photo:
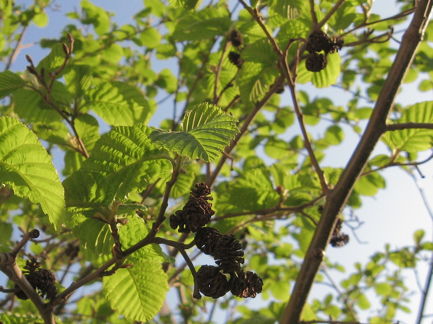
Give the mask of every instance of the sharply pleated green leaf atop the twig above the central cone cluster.
<path id="1" fill-rule="evenodd" d="M 237 119 L 208 103 L 194 106 L 182 119 L 180 132 L 154 130 L 152 142 L 171 152 L 206 162 L 216 159 L 236 133 Z"/>

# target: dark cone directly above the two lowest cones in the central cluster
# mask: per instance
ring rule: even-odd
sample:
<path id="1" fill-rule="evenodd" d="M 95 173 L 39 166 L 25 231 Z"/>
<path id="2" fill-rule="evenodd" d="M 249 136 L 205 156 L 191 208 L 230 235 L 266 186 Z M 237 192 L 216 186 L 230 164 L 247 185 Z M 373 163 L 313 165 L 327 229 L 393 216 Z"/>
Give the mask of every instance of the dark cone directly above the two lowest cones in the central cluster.
<path id="1" fill-rule="evenodd" d="M 233 234 L 221 236 L 216 241 L 212 255 L 223 273 L 238 272 L 245 262 L 242 244 Z"/>

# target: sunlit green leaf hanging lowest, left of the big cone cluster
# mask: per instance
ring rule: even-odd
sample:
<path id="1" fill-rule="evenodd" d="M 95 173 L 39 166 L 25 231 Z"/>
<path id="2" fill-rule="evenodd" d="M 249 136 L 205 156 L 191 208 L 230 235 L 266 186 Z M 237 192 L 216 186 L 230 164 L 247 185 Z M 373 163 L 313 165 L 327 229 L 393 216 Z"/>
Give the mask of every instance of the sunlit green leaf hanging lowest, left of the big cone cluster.
<path id="1" fill-rule="evenodd" d="M 132 261 L 132 267 L 103 277 L 105 295 L 111 307 L 126 319 L 149 321 L 165 300 L 167 275 L 158 262 L 135 258 Z"/>

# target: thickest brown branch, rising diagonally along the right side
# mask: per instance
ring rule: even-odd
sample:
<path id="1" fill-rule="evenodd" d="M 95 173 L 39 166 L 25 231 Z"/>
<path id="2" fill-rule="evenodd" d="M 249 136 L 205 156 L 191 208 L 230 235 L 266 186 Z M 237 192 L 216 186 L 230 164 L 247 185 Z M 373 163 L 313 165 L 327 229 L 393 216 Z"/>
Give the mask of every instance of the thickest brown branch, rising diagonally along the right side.
<path id="1" fill-rule="evenodd" d="M 316 256 L 315 252 L 326 249 L 338 214 L 346 205 L 353 186 L 359 175 L 361 175 L 376 143 L 387 129 L 388 113 L 394 105 L 395 95 L 414 60 L 418 45 L 423 39 L 431 7 L 432 0 L 418 2 L 414 18 L 404 33 L 401 46 L 379 94 L 367 128 L 338 183 L 334 189 L 329 191 L 326 197 L 322 217 L 297 276 L 291 298 L 281 318 L 281 324 L 298 324 L 300 321 L 301 312 L 321 264 L 321 259 Z"/>

